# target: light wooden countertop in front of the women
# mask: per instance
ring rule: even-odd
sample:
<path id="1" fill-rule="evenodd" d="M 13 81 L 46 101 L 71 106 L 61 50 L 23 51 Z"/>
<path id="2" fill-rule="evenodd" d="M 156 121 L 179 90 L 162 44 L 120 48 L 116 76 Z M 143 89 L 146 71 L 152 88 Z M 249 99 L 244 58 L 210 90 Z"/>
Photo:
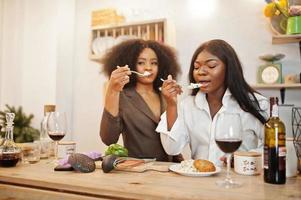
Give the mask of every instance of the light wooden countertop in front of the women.
<path id="1" fill-rule="evenodd" d="M 242 187 L 217 187 L 215 181 L 224 178 L 225 171 L 210 177 L 156 171 L 105 174 L 101 169 L 85 174 L 56 172 L 43 160 L 0 168 L 0 199 L 301 199 L 300 175 L 284 185 L 266 184 L 262 176 L 232 175 Z"/>

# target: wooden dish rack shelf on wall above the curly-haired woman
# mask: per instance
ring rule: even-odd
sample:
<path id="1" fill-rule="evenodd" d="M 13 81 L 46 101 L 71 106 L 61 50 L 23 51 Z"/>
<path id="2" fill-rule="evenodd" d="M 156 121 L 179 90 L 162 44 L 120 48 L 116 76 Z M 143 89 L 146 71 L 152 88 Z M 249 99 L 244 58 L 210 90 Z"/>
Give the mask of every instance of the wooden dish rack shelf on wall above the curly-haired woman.
<path id="1" fill-rule="evenodd" d="M 122 23 L 107 26 L 93 26 L 91 28 L 89 58 L 93 61 L 99 62 L 106 48 L 110 48 L 112 46 L 111 44 L 111 46 L 109 47 L 102 48 L 102 51 L 100 53 L 95 54 L 95 52 L 93 51 L 93 42 L 96 38 L 106 37 L 111 40 L 118 40 L 118 37 L 120 36 L 133 36 L 135 38 L 155 40 L 163 43 L 166 40 L 166 19 Z M 114 41 L 112 43 L 114 43 Z"/>

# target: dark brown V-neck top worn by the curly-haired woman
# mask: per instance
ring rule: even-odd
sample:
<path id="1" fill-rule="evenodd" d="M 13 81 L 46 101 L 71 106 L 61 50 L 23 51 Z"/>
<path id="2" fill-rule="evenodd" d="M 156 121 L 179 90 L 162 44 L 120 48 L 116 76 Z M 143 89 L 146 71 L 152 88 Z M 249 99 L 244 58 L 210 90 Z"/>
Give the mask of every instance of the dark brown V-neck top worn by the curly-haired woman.
<path id="1" fill-rule="evenodd" d="M 160 96 L 161 113 L 164 111 Z M 134 88 L 120 93 L 119 114 L 113 117 L 106 109 L 100 124 L 100 137 L 106 145 L 116 143 L 122 134 L 124 146 L 130 157 L 156 158 L 158 161 L 171 161 L 161 144 L 158 125 L 153 112 Z"/>

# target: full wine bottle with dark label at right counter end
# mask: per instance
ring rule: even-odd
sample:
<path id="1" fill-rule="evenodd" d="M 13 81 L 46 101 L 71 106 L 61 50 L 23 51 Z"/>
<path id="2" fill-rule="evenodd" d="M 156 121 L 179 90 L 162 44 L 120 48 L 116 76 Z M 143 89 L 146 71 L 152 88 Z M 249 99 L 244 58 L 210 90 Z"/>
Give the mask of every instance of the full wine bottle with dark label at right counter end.
<path id="1" fill-rule="evenodd" d="M 264 125 L 264 181 L 284 184 L 285 174 L 285 125 L 279 118 L 278 98 L 270 98 L 270 118 Z"/>

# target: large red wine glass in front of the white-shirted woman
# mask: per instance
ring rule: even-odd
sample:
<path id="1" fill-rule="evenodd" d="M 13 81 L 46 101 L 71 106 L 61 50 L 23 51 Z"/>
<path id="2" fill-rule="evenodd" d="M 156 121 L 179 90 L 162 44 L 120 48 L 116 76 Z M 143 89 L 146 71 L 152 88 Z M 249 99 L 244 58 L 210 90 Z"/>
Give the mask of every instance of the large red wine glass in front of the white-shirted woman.
<path id="1" fill-rule="evenodd" d="M 238 113 L 221 113 L 218 115 L 215 125 L 215 142 L 227 157 L 227 175 L 224 180 L 216 184 L 224 188 L 241 186 L 241 183 L 231 179 L 230 165 L 231 155 L 242 143 L 242 123 Z"/>

